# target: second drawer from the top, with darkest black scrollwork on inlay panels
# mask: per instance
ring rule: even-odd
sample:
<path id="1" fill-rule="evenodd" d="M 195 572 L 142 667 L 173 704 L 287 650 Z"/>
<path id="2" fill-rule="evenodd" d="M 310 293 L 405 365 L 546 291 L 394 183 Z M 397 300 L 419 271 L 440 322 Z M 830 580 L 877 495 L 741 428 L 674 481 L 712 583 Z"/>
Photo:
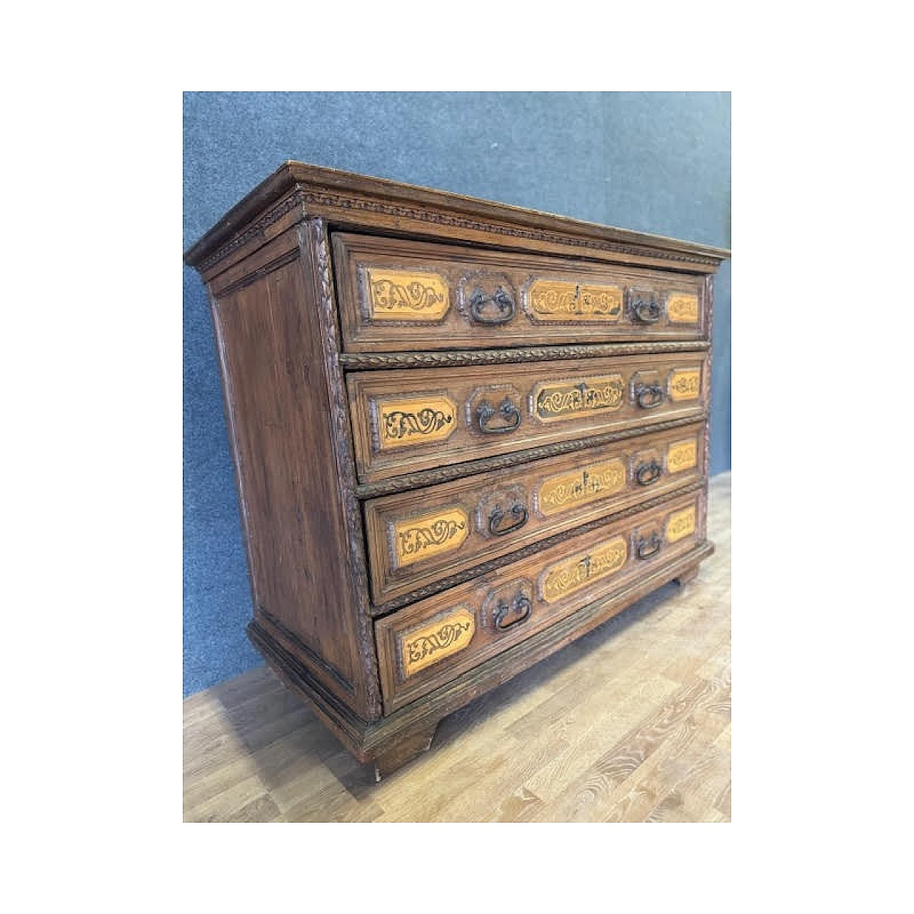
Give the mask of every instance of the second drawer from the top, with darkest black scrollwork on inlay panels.
<path id="1" fill-rule="evenodd" d="M 700 417 L 707 355 L 618 356 L 346 378 L 360 482 Z"/>

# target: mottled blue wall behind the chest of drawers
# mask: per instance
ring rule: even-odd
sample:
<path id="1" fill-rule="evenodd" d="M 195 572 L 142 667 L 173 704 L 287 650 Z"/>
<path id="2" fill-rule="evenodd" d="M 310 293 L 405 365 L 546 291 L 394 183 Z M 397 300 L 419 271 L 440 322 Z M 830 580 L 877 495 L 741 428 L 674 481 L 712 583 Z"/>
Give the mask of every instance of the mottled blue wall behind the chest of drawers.
<path id="1" fill-rule="evenodd" d="M 184 248 L 286 159 L 730 245 L 729 92 L 189 92 Z M 730 466 L 730 268 L 711 473 Z M 206 292 L 184 277 L 184 690 L 260 664 Z"/>

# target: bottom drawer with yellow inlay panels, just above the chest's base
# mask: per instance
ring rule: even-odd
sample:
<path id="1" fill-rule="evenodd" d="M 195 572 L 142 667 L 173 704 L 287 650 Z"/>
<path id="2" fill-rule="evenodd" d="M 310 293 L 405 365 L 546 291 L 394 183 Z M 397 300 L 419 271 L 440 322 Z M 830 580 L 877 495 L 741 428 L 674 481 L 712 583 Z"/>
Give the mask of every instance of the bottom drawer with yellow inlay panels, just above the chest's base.
<path id="1" fill-rule="evenodd" d="M 409 704 L 705 538 L 703 492 L 420 600 L 376 625 L 387 712 Z"/>

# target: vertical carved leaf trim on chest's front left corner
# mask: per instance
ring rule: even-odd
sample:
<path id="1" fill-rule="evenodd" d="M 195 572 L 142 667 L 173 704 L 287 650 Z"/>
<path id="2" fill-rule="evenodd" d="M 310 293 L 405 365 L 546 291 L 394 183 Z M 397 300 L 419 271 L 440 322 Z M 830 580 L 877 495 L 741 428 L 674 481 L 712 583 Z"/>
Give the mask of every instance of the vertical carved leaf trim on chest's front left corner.
<path id="1" fill-rule="evenodd" d="M 310 233 L 310 239 L 309 239 Z M 354 487 L 356 484 L 356 462 L 352 451 L 349 428 L 348 399 L 345 393 L 343 373 L 340 370 L 339 340 L 336 331 L 336 307 L 333 277 L 330 270 L 330 250 L 327 245 L 327 231 L 322 219 L 309 219 L 303 226 L 303 243 L 310 242 L 316 251 L 316 273 L 318 280 L 321 325 L 324 330 L 324 364 L 327 371 L 327 387 L 330 391 L 330 411 L 333 421 L 333 444 L 336 465 L 340 474 L 345 508 L 346 538 L 349 547 L 349 580 L 356 600 L 356 628 L 358 651 L 365 670 L 366 698 L 369 710 L 380 716 L 381 694 L 377 673 L 374 627 L 367 613 L 361 611 L 369 605 L 367 585 L 367 564 L 365 558 L 365 535 L 362 529 L 362 511 Z"/>

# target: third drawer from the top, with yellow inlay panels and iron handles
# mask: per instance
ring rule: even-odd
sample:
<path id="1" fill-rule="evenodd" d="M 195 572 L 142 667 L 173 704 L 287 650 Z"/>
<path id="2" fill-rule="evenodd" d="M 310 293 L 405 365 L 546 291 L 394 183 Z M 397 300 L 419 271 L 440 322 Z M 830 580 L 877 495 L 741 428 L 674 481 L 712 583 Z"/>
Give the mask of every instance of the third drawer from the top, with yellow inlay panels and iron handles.
<path id="1" fill-rule="evenodd" d="M 366 502 L 377 604 L 674 491 L 705 473 L 705 424 Z"/>

